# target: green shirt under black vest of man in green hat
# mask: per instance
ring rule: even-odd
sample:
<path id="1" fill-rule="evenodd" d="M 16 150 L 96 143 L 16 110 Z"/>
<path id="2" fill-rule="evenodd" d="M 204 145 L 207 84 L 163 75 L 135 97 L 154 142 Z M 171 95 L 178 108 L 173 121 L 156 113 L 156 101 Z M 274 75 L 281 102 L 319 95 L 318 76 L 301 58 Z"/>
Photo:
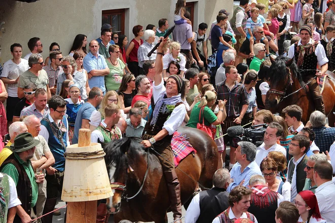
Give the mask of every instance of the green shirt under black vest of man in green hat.
<path id="1" fill-rule="evenodd" d="M 36 182 L 36 177 L 35 177 L 35 173 L 33 172 L 31 162 L 30 162 L 30 160 L 27 160 L 27 162 L 24 162 L 19 157 L 19 155 L 17 153 L 14 153 L 14 156 L 19 161 L 19 163 L 21 165 L 23 165 L 23 168 L 24 168 L 25 172 L 27 173 L 27 175 L 30 179 L 31 191 L 32 191 L 31 207 L 34 207 L 36 205 L 36 202 L 37 202 L 39 187 L 38 187 L 37 182 Z M 17 183 L 19 181 L 19 172 L 17 171 L 14 164 L 11 164 L 11 163 L 6 164 L 5 166 L 2 167 L 1 172 L 6 173 L 9 176 L 11 176 L 13 178 L 14 182 L 15 182 L 15 185 L 17 185 Z"/>

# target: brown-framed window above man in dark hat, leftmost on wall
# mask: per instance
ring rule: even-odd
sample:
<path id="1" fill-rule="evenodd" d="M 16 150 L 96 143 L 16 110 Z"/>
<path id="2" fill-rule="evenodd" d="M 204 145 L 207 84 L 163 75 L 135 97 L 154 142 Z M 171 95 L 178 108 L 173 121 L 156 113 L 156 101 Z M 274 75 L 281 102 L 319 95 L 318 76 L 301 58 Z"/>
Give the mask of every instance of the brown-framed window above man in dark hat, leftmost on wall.
<path id="1" fill-rule="evenodd" d="M 102 25 L 108 23 L 112 26 L 113 33 L 124 34 L 125 9 L 104 10 Z"/>

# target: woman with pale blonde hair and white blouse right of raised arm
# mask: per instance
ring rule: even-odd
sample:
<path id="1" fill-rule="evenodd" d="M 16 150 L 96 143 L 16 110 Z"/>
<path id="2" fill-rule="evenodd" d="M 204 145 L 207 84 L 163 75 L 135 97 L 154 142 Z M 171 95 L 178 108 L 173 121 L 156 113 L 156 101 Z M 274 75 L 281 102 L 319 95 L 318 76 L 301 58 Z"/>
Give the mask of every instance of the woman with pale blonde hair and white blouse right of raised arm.
<path id="1" fill-rule="evenodd" d="M 186 58 L 183 54 L 180 53 L 180 43 L 178 42 L 172 42 L 170 44 L 170 53 L 163 56 L 163 77 L 169 78 L 169 76 L 166 76 L 166 69 L 168 69 L 169 64 L 171 61 L 175 61 L 180 66 L 180 73 L 181 76 L 184 76 L 184 72 L 187 70 L 185 68 L 186 65 Z"/>

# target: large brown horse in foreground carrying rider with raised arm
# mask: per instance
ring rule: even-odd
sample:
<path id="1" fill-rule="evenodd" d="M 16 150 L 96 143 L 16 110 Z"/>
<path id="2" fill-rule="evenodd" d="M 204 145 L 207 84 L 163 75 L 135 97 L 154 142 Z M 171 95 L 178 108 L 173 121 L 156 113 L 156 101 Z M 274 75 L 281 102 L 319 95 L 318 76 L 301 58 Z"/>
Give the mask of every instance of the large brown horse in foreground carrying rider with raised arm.
<path id="1" fill-rule="evenodd" d="M 201 184 L 200 187 L 212 188 L 212 177 L 218 165 L 218 151 L 214 140 L 203 131 L 180 127 L 178 132 L 186 134 L 187 140 L 197 151 L 195 156 L 188 155 L 176 168 L 181 185 L 181 202 L 184 204 L 194 192 L 197 182 Z M 167 222 L 169 194 L 155 153 L 150 150 L 147 153 L 139 138 L 126 137 L 111 141 L 104 146 L 104 150 L 106 165 L 115 166 L 114 182 L 121 189 L 115 190 L 113 196 L 113 207 L 118 210 L 114 221 L 128 219 Z M 129 200 L 134 195 L 136 196 Z"/>

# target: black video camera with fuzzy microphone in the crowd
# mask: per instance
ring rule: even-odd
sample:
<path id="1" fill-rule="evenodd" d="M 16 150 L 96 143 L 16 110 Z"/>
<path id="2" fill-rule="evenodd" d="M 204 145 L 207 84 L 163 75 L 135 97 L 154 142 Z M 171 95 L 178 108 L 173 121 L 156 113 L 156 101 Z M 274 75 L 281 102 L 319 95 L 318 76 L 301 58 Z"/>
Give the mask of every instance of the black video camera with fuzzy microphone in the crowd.
<path id="1" fill-rule="evenodd" d="M 251 126 L 250 128 L 244 129 L 242 135 L 232 136 L 231 140 L 234 142 L 240 142 L 240 141 L 252 142 L 254 145 L 259 146 L 263 143 L 266 128 L 267 124 L 259 124 Z"/>

